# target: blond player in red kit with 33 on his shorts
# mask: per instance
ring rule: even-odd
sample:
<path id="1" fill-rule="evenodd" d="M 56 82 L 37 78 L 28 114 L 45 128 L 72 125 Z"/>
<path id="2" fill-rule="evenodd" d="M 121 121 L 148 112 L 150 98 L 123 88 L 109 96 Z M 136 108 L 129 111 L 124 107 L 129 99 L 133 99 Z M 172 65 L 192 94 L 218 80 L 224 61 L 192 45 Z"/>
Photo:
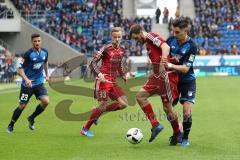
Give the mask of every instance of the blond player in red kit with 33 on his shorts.
<path id="1" fill-rule="evenodd" d="M 81 134 L 88 137 L 94 136 L 89 129 L 104 112 L 121 110 L 128 105 L 127 97 L 116 83 L 117 73 L 126 81 L 122 66 L 125 50 L 120 46 L 122 29 L 113 27 L 111 34 L 112 42 L 103 46 L 94 55 L 90 63 L 90 68 L 97 75 L 94 97 L 98 100 L 99 106 L 92 110 L 89 120 L 81 130 Z M 97 63 L 100 60 L 102 60 L 102 65 L 99 68 Z M 108 105 L 107 101 L 109 98 L 117 102 Z"/>

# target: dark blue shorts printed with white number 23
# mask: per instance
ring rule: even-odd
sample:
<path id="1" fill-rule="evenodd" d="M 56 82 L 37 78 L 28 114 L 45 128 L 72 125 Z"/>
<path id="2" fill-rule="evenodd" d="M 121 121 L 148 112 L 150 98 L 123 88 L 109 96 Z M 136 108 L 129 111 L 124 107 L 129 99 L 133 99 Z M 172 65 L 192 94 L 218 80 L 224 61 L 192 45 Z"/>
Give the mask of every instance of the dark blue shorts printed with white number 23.
<path id="1" fill-rule="evenodd" d="M 43 96 L 48 96 L 47 89 L 44 87 L 43 83 L 32 88 L 21 85 L 19 102 L 21 104 L 27 104 L 33 94 L 35 95 L 36 99 L 40 99 Z"/>

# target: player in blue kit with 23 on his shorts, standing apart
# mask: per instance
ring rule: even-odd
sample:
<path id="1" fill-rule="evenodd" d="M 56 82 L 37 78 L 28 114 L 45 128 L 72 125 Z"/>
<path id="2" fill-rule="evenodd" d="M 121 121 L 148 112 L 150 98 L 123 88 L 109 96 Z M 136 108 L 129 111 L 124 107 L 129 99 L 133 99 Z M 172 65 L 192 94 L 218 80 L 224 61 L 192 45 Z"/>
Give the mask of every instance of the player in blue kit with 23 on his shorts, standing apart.
<path id="1" fill-rule="evenodd" d="M 48 77 L 48 51 L 41 48 L 42 39 L 39 34 L 32 34 L 31 41 L 33 47 L 29 49 L 23 56 L 23 63 L 19 65 L 18 72 L 22 77 L 21 91 L 19 95 L 19 105 L 14 110 L 12 119 L 8 125 L 7 132 L 13 132 L 14 124 L 26 108 L 29 99 L 34 94 L 40 100 L 40 104 L 36 110 L 27 118 L 29 129 L 34 130 L 34 120 L 40 115 L 49 103 L 48 93 L 44 87 L 45 71 L 46 81 Z"/>

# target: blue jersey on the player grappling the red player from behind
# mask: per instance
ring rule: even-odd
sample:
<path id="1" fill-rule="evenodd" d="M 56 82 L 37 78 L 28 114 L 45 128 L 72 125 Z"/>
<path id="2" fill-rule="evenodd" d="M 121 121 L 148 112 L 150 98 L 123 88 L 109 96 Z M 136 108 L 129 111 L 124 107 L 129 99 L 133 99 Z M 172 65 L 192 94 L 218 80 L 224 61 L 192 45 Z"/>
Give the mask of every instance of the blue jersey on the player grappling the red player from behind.
<path id="1" fill-rule="evenodd" d="M 190 67 L 187 73 L 179 72 L 179 80 L 184 82 L 196 79 L 193 70 L 193 62 L 197 54 L 197 46 L 195 42 L 188 37 L 186 42 L 179 45 L 176 38 L 170 37 L 167 40 L 167 44 L 170 47 L 170 56 L 177 57 L 179 59 L 179 65 Z"/>

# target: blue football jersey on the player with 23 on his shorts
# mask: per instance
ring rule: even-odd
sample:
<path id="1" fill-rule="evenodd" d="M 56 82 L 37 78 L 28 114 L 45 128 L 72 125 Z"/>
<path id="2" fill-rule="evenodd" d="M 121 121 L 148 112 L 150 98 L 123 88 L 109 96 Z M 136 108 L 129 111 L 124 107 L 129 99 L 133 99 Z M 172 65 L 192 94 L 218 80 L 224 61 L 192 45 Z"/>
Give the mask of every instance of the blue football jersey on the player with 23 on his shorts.
<path id="1" fill-rule="evenodd" d="M 37 52 L 31 48 L 24 54 L 23 59 L 24 62 L 19 68 L 24 70 L 28 79 L 33 80 L 32 86 L 43 83 L 43 65 L 48 61 L 48 51 L 41 48 L 40 52 Z M 22 85 L 26 86 L 25 80 L 22 81 Z"/>

